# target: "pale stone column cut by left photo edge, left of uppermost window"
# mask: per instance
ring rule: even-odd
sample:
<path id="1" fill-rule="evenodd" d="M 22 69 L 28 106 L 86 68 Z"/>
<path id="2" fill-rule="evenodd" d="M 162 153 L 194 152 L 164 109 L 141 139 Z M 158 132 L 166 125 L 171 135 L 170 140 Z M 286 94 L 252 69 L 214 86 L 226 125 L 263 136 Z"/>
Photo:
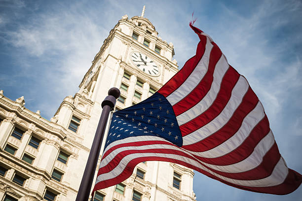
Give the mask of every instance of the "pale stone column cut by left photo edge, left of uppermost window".
<path id="1" fill-rule="evenodd" d="M 3 149 L 4 144 L 8 138 L 8 136 L 11 134 L 14 123 L 15 123 L 16 114 L 11 113 L 9 117 L 4 119 L 0 125 L 0 147 Z"/>

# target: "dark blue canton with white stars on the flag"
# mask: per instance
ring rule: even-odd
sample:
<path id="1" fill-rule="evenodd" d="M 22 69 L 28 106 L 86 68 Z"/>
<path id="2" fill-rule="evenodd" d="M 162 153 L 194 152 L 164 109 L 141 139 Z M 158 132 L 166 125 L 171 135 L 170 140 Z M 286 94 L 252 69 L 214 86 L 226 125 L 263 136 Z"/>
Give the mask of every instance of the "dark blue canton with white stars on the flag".
<path id="1" fill-rule="evenodd" d="M 105 148 L 115 140 L 146 135 L 162 137 L 179 147 L 183 145 L 173 108 L 157 92 L 147 100 L 113 113 Z"/>

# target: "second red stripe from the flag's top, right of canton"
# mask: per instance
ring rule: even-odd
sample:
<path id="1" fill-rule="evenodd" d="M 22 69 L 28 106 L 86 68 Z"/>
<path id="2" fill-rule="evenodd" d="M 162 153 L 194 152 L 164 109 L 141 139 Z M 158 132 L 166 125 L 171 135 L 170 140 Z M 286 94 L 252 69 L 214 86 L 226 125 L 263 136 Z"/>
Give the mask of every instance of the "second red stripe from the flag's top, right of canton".
<path id="1" fill-rule="evenodd" d="M 218 60 L 221 58 L 222 53 L 219 47 L 214 43 L 214 47 L 211 50 L 210 59 L 209 59 L 209 67 L 207 73 L 204 75 L 202 80 L 198 83 L 198 85 L 193 89 L 190 94 L 185 97 L 183 100 L 180 100 L 178 103 L 173 105 L 173 110 L 175 116 L 182 114 L 183 112 L 190 109 L 196 103 L 198 103 L 210 90 L 211 84 L 213 82 L 213 74 L 215 70 L 215 66 Z"/>

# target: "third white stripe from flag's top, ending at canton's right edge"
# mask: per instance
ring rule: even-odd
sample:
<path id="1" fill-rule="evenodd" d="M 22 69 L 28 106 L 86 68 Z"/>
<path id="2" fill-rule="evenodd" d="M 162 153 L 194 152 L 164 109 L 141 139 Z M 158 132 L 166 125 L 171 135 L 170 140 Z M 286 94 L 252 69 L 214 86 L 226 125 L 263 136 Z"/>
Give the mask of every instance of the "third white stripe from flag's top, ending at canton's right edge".
<path id="1" fill-rule="evenodd" d="M 240 76 L 223 111 L 207 125 L 184 136 L 183 145 L 194 144 L 220 130 L 228 122 L 229 118 L 240 105 L 242 98 L 248 89 L 248 82 L 243 76 Z"/>

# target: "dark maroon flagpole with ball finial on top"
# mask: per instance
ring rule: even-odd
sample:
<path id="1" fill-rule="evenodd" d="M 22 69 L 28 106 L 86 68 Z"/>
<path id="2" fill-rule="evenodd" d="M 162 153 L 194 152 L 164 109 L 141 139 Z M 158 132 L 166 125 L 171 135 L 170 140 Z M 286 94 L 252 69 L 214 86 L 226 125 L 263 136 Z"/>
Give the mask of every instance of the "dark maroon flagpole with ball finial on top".
<path id="1" fill-rule="evenodd" d="M 94 135 L 82 181 L 77 192 L 76 201 L 88 201 L 95 169 L 97 167 L 98 159 L 100 156 L 100 150 L 104 138 L 106 124 L 108 121 L 108 116 L 110 110 L 115 105 L 116 99 L 120 95 L 120 91 L 119 89 L 113 87 L 108 91 L 108 95 L 109 96 L 106 97 L 105 100 L 103 100 L 102 102 L 103 110 L 101 118 L 96 133 Z"/>

